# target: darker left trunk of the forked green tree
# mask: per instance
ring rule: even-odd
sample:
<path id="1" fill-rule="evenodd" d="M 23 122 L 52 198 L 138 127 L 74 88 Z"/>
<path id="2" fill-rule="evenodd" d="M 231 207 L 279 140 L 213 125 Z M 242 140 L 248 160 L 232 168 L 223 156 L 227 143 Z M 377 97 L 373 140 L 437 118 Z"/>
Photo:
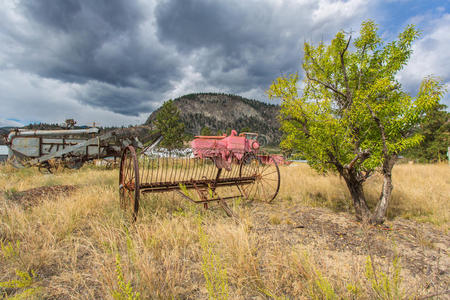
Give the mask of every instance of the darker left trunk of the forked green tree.
<path id="1" fill-rule="evenodd" d="M 366 203 L 362 182 L 360 182 L 356 177 L 356 171 L 344 171 L 341 175 L 344 177 L 345 183 L 350 191 L 350 195 L 352 196 L 356 219 L 358 221 L 369 222 L 370 210 Z"/>

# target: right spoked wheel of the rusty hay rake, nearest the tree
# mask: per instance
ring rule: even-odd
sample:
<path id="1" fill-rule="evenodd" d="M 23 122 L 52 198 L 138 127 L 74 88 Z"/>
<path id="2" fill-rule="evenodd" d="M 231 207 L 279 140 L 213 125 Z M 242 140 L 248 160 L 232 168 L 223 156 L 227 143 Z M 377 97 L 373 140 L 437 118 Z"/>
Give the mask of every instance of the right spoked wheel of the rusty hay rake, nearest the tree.
<path id="1" fill-rule="evenodd" d="M 254 178 L 253 183 L 239 186 L 248 200 L 272 202 L 280 190 L 280 170 L 270 155 L 247 153 L 242 158 L 239 176 Z"/>

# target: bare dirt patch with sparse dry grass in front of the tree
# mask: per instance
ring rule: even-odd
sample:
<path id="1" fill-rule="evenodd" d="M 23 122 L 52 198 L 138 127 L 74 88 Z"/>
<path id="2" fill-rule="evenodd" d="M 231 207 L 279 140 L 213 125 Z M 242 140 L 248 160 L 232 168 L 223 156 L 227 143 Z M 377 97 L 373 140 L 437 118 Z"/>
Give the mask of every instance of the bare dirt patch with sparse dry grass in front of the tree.
<path id="1" fill-rule="evenodd" d="M 398 257 L 409 276 L 426 278 L 424 288 L 447 290 L 450 297 L 450 236 L 430 224 L 399 218 L 384 226 L 362 225 L 348 213 L 300 205 L 258 203 L 252 210 L 256 221 L 252 230 L 286 248 L 309 245 L 320 253 L 330 253 L 331 259 L 347 254 L 388 260 Z"/>

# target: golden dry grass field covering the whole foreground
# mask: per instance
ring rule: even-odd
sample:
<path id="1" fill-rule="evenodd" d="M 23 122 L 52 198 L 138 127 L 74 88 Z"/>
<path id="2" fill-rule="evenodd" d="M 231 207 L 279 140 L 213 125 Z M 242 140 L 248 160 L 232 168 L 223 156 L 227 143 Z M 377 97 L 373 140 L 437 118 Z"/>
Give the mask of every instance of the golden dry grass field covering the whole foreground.
<path id="1" fill-rule="evenodd" d="M 344 182 L 299 163 L 281 167 L 272 204 L 230 202 L 239 223 L 160 194 L 130 224 L 117 169 L 2 166 L 0 297 L 448 299 L 449 175 L 394 167 L 387 227 L 355 222 Z M 367 183 L 371 203 L 380 182 Z"/>

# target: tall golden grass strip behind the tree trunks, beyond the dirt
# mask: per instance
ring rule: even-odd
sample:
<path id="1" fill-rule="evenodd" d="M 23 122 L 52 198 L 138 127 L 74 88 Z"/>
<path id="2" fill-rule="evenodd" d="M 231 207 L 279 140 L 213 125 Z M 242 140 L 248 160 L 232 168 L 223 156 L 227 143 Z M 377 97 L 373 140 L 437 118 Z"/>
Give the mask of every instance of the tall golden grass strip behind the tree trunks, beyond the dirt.
<path id="1" fill-rule="evenodd" d="M 283 167 L 281 196 L 305 205 L 352 211 L 350 194 L 337 175 L 319 175 L 306 164 Z M 388 217 L 430 222 L 448 230 L 450 221 L 450 166 L 399 164 L 393 170 L 394 191 Z M 369 205 L 375 206 L 382 178 L 374 175 L 365 185 Z"/>

